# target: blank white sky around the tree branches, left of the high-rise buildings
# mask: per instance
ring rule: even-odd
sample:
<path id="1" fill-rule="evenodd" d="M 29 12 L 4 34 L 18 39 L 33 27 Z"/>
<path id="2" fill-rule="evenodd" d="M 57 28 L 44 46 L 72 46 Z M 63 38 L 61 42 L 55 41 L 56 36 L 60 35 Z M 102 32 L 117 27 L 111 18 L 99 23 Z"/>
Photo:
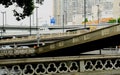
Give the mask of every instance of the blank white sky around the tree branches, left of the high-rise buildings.
<path id="1" fill-rule="evenodd" d="M 39 21 L 39 25 L 41 25 L 40 23 L 49 23 L 49 19 L 50 16 L 52 16 L 52 0 L 45 0 L 43 2 L 43 5 L 36 5 L 39 6 L 38 8 L 38 21 Z M 17 9 L 19 11 L 21 11 L 21 9 L 16 8 L 14 5 L 10 6 L 9 8 L 4 8 L 3 5 L 0 5 L 0 25 L 3 24 L 3 14 L 1 12 L 6 12 L 6 24 L 7 25 L 20 25 L 20 26 L 24 26 L 24 25 L 28 25 L 30 23 L 30 18 L 26 17 L 24 20 L 21 21 L 17 21 L 16 18 L 13 16 L 13 9 Z M 33 16 L 32 16 L 33 19 Z M 36 19 L 36 10 L 34 10 L 34 19 Z M 32 21 L 33 22 L 33 21 Z M 35 25 L 35 23 L 34 23 Z"/>

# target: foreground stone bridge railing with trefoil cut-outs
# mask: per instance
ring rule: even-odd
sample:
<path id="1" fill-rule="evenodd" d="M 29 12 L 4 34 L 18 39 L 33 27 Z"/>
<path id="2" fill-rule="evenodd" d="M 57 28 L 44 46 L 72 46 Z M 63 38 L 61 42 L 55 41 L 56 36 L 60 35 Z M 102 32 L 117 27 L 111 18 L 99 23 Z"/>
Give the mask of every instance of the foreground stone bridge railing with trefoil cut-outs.
<path id="1" fill-rule="evenodd" d="M 1 73 L 12 75 L 120 74 L 120 56 L 93 55 L 0 60 Z"/>

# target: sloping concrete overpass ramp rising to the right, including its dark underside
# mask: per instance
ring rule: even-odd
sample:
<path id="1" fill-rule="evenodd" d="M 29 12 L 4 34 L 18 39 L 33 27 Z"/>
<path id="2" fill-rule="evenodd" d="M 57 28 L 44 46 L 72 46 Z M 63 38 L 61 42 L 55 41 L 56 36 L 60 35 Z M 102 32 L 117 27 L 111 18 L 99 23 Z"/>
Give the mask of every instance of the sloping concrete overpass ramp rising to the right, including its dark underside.
<path id="1" fill-rule="evenodd" d="M 80 53 L 83 52 L 119 45 L 120 44 L 119 34 L 120 34 L 120 24 L 116 24 L 109 27 L 94 30 L 91 32 L 87 32 L 84 34 L 79 34 L 75 36 L 72 35 L 72 37 L 69 37 L 67 39 L 63 39 L 51 43 L 49 45 L 44 45 L 39 48 L 32 49 L 33 53 L 31 53 L 31 51 L 29 53 L 29 49 L 25 49 L 25 50 L 22 49 L 22 51 L 20 49 L 1 50 L 0 53 L 2 56 L 6 56 L 6 55 L 12 56 L 17 54 L 24 55 L 24 52 L 27 52 L 28 55 L 36 54 L 37 56 L 79 55 Z M 23 41 L 25 40 L 29 40 L 29 39 L 24 39 Z"/>

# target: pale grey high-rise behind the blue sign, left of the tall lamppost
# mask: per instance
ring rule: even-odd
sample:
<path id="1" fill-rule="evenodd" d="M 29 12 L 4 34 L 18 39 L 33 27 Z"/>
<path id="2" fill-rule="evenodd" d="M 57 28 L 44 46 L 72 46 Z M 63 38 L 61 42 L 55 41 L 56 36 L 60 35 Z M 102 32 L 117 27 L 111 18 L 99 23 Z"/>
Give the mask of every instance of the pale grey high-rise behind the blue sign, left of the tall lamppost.
<path id="1" fill-rule="evenodd" d="M 83 0 L 54 0 L 53 2 L 53 14 L 57 25 L 66 25 L 83 12 Z"/>

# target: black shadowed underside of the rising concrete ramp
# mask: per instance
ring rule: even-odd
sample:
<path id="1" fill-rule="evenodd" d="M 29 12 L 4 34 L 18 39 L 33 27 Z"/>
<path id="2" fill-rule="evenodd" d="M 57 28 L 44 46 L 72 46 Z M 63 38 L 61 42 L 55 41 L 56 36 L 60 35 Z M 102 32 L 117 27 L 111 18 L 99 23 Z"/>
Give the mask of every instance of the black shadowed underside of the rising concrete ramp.
<path id="1" fill-rule="evenodd" d="M 67 48 L 62 48 L 42 54 L 38 54 L 38 56 L 74 56 L 74 55 L 80 55 L 81 53 L 88 52 L 88 51 L 94 51 L 99 50 L 102 48 L 107 47 L 113 47 L 120 45 L 120 35 L 115 35 L 91 42 L 86 42 L 83 44 L 70 46 Z"/>

